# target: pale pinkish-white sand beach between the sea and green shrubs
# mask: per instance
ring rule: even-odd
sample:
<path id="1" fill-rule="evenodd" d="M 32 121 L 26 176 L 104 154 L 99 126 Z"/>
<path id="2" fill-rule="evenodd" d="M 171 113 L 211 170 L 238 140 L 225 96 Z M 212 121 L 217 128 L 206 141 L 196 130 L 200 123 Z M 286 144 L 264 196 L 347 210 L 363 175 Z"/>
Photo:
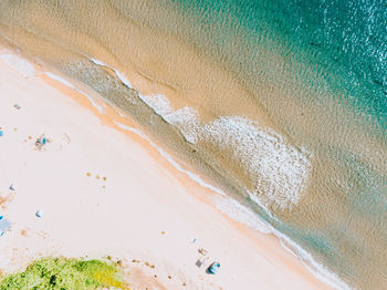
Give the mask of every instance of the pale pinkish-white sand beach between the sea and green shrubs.
<path id="1" fill-rule="evenodd" d="M 111 256 L 133 289 L 328 289 L 273 235 L 219 211 L 221 197 L 176 169 L 129 117 L 4 53 L 0 206 L 12 227 L 0 238 L 1 271 L 50 255 Z M 219 273 L 206 273 L 215 260 Z"/>

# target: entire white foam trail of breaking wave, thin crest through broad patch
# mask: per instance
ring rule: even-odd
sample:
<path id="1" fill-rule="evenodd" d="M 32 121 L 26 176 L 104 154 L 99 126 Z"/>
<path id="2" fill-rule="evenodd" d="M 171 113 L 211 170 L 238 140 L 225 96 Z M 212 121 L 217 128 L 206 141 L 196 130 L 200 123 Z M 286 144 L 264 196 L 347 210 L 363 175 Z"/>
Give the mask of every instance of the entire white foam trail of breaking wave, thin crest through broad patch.
<path id="1" fill-rule="evenodd" d="M 92 62 L 113 70 L 125 85 L 134 89 L 124 73 L 103 61 L 92 59 Z M 202 124 L 199 112 L 188 106 L 174 110 L 164 95 L 138 93 L 138 96 L 177 127 L 187 142 L 210 142 L 220 151 L 231 152 L 231 158 L 254 183 L 254 188 L 248 190 L 251 199 L 269 214 L 271 209 L 291 209 L 305 193 L 312 167 L 308 154 L 274 131 L 241 116 L 221 116 Z"/>

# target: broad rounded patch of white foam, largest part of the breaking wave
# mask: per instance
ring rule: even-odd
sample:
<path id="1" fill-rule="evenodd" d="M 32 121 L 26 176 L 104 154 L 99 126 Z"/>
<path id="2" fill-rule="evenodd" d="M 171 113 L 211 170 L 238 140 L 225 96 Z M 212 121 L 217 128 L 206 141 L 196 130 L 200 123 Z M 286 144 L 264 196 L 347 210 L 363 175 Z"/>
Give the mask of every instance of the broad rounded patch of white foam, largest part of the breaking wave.
<path id="1" fill-rule="evenodd" d="M 296 205 L 307 185 L 310 160 L 275 132 L 240 117 L 219 117 L 206 124 L 200 139 L 217 144 L 242 164 L 255 183 L 257 196 L 265 207 Z"/>

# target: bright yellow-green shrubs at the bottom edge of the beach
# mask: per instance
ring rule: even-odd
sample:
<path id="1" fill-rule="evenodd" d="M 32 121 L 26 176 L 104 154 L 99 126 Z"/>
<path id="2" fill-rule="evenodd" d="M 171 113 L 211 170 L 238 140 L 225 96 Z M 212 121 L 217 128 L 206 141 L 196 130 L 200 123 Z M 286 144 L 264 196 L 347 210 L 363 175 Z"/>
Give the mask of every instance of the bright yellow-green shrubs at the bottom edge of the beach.
<path id="1" fill-rule="evenodd" d="M 128 289 L 116 265 L 101 260 L 44 258 L 4 277 L 0 290 Z"/>

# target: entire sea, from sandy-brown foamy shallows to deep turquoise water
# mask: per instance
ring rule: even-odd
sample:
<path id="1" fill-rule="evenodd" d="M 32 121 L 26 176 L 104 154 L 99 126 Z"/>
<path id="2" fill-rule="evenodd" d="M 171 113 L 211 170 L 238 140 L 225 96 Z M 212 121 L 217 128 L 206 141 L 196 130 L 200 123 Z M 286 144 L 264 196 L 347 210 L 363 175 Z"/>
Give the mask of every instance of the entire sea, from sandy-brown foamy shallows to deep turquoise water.
<path id="1" fill-rule="evenodd" d="M 3 0 L 0 35 L 124 110 L 336 288 L 387 289 L 387 2 Z"/>

